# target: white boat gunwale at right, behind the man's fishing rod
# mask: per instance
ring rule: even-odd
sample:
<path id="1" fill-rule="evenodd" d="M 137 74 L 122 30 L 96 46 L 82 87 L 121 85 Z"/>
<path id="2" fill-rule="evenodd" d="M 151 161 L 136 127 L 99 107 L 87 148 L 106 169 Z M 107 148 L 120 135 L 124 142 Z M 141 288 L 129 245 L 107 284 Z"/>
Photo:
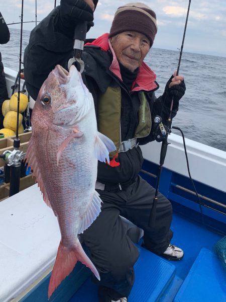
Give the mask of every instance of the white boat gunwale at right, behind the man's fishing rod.
<path id="1" fill-rule="evenodd" d="M 164 167 L 188 177 L 183 139 L 171 133 L 168 136 Z M 185 138 L 192 179 L 226 192 L 226 152 Z M 141 146 L 146 160 L 159 164 L 161 143 L 153 141 Z"/>

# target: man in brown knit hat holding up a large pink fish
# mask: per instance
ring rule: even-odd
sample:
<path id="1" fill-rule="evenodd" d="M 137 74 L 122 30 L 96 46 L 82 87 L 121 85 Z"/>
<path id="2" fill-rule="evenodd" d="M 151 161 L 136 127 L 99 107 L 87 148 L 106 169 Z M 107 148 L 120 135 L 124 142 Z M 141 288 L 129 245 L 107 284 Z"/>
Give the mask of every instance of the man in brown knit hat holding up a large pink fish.
<path id="1" fill-rule="evenodd" d="M 56 64 L 67 69 L 76 22 L 87 21 L 89 29 L 96 4 L 97 0 L 61 0 L 31 32 L 24 70 L 33 99 Z M 134 283 L 133 266 L 139 253 L 121 216 L 144 230 L 143 246 L 149 251 L 171 260 L 183 257 L 183 251 L 170 244 L 172 206 L 161 193 L 155 226 L 149 226 L 155 189 L 139 175 L 143 164 L 139 145 L 154 140 L 154 117 L 161 115 L 166 122 L 173 97 L 173 118 L 185 93 L 183 77 L 174 74 L 164 94 L 155 96 L 159 88 L 156 75 L 143 60 L 156 33 L 154 11 L 144 4 L 130 3 L 117 10 L 109 34 L 86 43 L 82 52 L 82 77 L 93 96 L 98 131 L 117 146 L 109 164 L 98 162 L 96 190 L 103 201 L 101 213 L 81 234 L 100 275 L 100 281 L 93 278 L 100 302 L 126 301 Z"/>

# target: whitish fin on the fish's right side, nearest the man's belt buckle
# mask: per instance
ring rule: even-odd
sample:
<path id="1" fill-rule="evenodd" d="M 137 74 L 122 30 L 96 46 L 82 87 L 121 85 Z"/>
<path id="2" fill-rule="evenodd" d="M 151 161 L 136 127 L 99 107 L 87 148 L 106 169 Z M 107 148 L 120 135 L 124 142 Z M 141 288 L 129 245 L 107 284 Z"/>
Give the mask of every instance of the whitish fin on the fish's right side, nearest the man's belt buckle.
<path id="1" fill-rule="evenodd" d="M 95 140 L 94 152 L 98 161 L 109 163 L 109 153 L 116 150 L 116 146 L 111 139 L 98 132 Z"/>

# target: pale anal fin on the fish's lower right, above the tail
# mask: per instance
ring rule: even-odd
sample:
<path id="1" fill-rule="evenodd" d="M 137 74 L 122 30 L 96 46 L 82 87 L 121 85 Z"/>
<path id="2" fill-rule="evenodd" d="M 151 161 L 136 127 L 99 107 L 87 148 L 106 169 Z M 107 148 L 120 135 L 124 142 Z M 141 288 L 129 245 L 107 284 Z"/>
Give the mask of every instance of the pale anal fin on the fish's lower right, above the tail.
<path id="1" fill-rule="evenodd" d="M 99 198 L 99 194 L 94 191 L 92 201 L 89 204 L 85 215 L 82 217 L 80 224 L 78 226 L 78 234 L 83 233 L 88 227 L 92 224 L 92 222 L 96 219 L 96 217 L 101 212 L 101 202 L 102 200 Z"/>

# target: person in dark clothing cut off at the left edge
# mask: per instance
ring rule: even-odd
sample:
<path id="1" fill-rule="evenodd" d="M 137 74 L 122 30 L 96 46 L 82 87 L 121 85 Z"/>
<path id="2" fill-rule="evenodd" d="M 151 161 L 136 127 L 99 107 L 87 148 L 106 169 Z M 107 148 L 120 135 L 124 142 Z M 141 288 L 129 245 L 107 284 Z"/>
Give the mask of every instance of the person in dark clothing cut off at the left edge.
<path id="1" fill-rule="evenodd" d="M 10 41 L 9 28 L 0 12 L 0 44 L 6 44 Z M 2 54 L 0 52 L 0 128 L 3 128 L 3 113 L 2 105 L 5 100 L 9 99 L 6 78 L 4 73 L 4 66 L 2 62 Z"/>

